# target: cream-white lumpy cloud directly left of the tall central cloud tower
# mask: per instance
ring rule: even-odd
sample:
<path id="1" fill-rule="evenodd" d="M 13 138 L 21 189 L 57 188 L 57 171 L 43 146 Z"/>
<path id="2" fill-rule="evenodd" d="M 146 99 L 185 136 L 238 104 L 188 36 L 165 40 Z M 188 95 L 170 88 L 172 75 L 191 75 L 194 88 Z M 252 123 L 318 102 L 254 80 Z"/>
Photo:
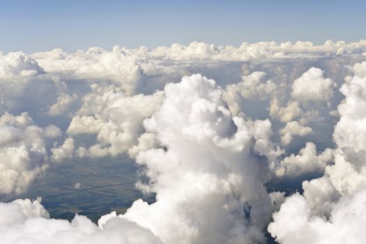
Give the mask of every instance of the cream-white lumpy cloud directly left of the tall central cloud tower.
<path id="1" fill-rule="evenodd" d="M 143 133 L 143 119 L 161 106 L 164 93 L 127 96 L 116 86 L 91 86 L 93 92 L 82 98 L 83 104 L 72 118 L 67 133 L 97 134 L 97 144 L 82 155 L 100 157 L 127 152 Z"/>

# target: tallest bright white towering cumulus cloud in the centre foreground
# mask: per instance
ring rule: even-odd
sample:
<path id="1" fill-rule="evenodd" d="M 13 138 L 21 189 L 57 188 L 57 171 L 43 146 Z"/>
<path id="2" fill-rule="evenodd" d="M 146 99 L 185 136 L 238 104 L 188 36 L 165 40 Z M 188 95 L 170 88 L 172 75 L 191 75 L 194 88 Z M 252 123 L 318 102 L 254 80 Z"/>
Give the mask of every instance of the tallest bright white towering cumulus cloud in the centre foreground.
<path id="1" fill-rule="evenodd" d="M 155 192 L 157 201 L 137 200 L 122 218 L 164 243 L 264 243 L 272 208 L 263 186 L 268 162 L 253 153 L 250 124 L 232 118 L 223 90 L 202 75 L 183 77 L 164 91 L 166 100 L 144 126 L 166 150 L 136 157 L 150 178 L 138 186 Z"/>

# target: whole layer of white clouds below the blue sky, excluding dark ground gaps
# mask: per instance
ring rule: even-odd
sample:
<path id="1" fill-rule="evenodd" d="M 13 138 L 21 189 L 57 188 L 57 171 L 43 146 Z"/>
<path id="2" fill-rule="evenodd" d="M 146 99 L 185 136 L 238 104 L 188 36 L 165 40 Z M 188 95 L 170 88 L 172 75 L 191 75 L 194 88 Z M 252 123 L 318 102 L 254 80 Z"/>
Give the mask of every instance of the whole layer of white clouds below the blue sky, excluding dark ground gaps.
<path id="1" fill-rule="evenodd" d="M 156 196 L 97 224 L 2 202 L 0 243 L 266 243 L 266 229 L 364 243 L 365 53 L 365 40 L 0 53 L 0 197 L 121 154 Z M 301 177 L 302 194 L 268 193 Z"/>

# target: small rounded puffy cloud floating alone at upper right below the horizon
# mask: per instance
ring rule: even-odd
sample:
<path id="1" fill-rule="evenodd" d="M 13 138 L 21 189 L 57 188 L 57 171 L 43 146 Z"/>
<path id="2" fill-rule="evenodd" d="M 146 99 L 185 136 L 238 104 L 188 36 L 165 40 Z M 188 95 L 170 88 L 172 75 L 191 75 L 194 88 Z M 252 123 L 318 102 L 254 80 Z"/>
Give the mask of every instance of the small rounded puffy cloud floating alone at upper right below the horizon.
<path id="1" fill-rule="evenodd" d="M 333 96 L 335 83 L 332 79 L 324 78 L 324 71 L 310 68 L 292 84 L 292 98 L 301 102 L 328 101 Z"/>

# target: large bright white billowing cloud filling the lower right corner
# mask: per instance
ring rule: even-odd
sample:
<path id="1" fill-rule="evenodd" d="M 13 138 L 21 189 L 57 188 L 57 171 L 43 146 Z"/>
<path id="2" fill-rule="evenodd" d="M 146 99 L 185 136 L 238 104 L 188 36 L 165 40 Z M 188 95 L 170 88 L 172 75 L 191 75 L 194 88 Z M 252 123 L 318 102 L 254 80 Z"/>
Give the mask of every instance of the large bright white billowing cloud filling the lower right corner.
<path id="1" fill-rule="evenodd" d="M 269 232 L 279 243 L 363 243 L 365 233 L 366 79 L 353 77 L 342 85 L 340 121 L 333 137 L 334 165 L 324 176 L 303 182 L 303 196 L 288 197 L 273 214 Z"/>

